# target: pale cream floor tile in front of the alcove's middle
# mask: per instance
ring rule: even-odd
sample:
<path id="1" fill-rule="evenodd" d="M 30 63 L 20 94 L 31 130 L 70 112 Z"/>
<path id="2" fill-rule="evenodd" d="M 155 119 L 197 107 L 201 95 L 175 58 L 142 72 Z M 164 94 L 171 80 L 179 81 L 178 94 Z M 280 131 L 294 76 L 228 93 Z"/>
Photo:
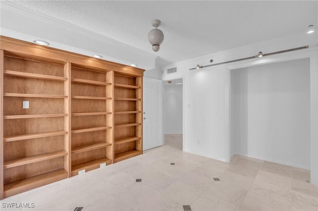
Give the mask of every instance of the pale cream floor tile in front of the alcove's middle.
<path id="1" fill-rule="evenodd" d="M 292 189 L 292 178 L 260 170 L 254 182 L 266 182 L 283 188 Z"/>

